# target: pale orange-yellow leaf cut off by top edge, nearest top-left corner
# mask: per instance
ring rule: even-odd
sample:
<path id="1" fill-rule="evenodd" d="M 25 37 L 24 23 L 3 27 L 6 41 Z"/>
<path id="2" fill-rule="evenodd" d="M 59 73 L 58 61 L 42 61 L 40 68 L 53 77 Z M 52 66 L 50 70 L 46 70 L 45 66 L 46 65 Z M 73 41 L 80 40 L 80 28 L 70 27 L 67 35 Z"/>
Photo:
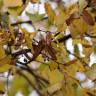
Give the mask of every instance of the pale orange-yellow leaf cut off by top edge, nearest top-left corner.
<path id="1" fill-rule="evenodd" d="M 4 0 L 5 7 L 17 7 L 22 5 L 22 0 Z"/>

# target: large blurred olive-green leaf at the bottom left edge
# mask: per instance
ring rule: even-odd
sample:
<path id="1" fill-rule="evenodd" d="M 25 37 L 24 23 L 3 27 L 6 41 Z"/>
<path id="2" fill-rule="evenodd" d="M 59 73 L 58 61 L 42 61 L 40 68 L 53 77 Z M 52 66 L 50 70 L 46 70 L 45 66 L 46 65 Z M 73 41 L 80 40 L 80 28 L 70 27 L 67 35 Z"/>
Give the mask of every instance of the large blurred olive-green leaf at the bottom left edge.
<path id="1" fill-rule="evenodd" d="M 28 83 L 22 76 L 15 75 L 10 87 L 9 96 L 15 96 L 18 91 L 21 91 L 24 96 L 28 96 L 30 92 L 28 86 Z"/>

